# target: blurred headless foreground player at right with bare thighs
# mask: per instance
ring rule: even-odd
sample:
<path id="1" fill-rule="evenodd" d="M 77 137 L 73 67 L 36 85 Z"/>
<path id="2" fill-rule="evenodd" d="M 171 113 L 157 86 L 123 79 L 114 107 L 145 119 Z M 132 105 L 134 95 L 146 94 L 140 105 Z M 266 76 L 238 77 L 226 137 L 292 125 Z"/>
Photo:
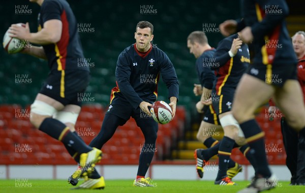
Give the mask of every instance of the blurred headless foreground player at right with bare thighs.
<path id="1" fill-rule="evenodd" d="M 285 17 L 288 6 L 283 0 L 242 1 L 243 20 L 227 20 L 220 25 L 224 35 L 240 31 L 245 43 L 253 44 L 255 57 L 236 89 L 232 112 L 257 163 L 255 177 L 240 193 L 259 192 L 277 185 L 271 176 L 265 153 L 264 132 L 255 121 L 254 112 L 271 96 L 285 115 L 287 123 L 305 136 L 305 106 L 296 80 L 297 59 L 289 37 Z M 281 14 L 278 14 L 281 12 Z M 283 49 L 277 49 L 281 45 Z M 279 84 L 281 80 L 281 84 Z M 277 85 L 274 82 L 277 81 Z M 251 85 L 251 87 L 249 87 Z M 287 102 L 289 101 L 289 102 Z"/>

